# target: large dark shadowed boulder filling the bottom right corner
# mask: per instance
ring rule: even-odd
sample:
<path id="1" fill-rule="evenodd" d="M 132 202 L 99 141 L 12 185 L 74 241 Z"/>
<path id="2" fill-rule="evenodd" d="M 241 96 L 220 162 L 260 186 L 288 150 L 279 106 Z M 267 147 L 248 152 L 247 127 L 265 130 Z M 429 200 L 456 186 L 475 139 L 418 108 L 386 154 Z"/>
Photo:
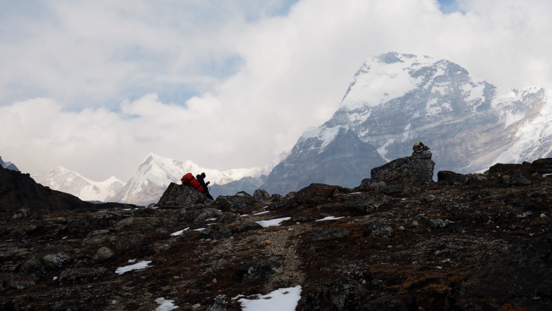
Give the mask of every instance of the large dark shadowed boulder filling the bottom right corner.
<path id="1" fill-rule="evenodd" d="M 551 258 L 552 235 L 500 250 L 451 292 L 448 310 L 550 310 Z"/>

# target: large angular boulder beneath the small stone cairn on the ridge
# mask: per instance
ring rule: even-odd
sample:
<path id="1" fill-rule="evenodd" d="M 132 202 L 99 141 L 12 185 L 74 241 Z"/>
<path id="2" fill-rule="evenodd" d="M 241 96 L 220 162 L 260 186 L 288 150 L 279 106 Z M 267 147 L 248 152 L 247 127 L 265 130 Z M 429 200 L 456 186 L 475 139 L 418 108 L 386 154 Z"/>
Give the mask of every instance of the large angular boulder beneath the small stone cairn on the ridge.
<path id="1" fill-rule="evenodd" d="M 435 162 L 431 151 L 424 150 L 411 157 L 393 160 L 371 170 L 373 179 L 380 179 L 387 185 L 424 185 L 433 182 Z"/>

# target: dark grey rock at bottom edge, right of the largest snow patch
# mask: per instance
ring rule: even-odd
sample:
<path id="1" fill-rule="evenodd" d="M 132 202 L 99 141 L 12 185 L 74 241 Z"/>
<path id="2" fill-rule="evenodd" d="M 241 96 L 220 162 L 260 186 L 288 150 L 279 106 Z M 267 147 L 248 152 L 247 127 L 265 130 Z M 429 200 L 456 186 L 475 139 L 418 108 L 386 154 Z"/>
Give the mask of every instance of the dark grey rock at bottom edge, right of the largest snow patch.
<path id="1" fill-rule="evenodd" d="M 352 279 L 342 278 L 324 284 L 322 297 L 328 310 L 354 311 L 368 297 L 368 290 Z"/>

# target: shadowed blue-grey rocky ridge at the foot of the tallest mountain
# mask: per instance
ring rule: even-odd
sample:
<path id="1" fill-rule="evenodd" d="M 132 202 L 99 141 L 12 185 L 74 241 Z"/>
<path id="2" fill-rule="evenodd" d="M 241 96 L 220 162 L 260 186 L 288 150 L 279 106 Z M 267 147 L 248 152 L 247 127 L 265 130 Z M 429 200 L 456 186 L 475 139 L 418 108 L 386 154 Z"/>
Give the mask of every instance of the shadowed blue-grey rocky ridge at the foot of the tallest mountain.
<path id="1" fill-rule="evenodd" d="M 291 153 L 268 175 L 261 188 L 286 194 L 311 183 L 354 188 L 372 168 L 386 161 L 375 148 L 346 127 L 311 128 L 304 132 Z"/>

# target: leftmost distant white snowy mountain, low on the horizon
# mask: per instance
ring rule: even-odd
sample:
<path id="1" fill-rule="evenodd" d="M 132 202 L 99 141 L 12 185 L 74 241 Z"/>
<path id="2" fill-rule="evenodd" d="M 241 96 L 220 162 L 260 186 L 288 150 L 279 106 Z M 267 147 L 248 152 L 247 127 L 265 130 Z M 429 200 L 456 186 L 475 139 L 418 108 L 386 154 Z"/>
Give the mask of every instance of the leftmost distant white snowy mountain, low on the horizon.
<path id="1" fill-rule="evenodd" d="M 110 177 L 106 181 L 91 181 L 61 166 L 46 174 L 36 174 L 31 177 L 37 183 L 72 194 L 83 201 L 113 201 L 112 197 L 115 197 L 115 194 L 125 185 L 115 177 Z"/>

